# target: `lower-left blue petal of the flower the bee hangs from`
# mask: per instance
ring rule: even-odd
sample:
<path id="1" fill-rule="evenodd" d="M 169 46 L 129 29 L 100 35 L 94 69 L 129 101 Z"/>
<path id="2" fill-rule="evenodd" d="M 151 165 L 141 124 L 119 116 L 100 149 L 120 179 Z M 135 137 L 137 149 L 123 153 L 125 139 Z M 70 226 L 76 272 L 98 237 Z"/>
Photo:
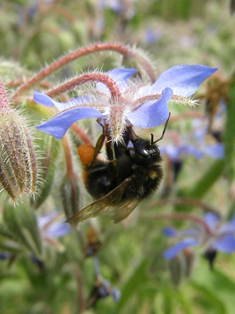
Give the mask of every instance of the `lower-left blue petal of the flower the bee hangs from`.
<path id="1" fill-rule="evenodd" d="M 77 120 L 85 118 L 99 118 L 104 115 L 98 110 L 90 107 L 74 107 L 58 113 L 50 120 L 40 124 L 36 129 L 61 139 L 68 128 Z"/>

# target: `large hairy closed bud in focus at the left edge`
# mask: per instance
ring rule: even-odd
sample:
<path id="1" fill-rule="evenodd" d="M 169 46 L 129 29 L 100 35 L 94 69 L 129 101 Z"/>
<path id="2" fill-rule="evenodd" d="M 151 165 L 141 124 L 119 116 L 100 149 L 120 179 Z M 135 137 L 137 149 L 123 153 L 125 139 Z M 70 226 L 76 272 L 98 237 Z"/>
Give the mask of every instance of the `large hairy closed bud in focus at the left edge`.
<path id="1" fill-rule="evenodd" d="M 15 201 L 34 194 L 37 165 L 29 132 L 18 113 L 8 106 L 0 81 L 0 183 Z"/>

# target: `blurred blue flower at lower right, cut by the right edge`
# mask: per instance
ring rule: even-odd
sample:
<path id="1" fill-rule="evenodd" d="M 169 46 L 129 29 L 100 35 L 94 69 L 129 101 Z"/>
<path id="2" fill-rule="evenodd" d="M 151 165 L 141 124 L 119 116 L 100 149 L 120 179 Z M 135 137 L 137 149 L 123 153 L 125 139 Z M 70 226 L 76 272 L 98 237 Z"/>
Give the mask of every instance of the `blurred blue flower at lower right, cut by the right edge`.
<path id="1" fill-rule="evenodd" d="M 204 251 L 216 250 L 224 253 L 235 251 L 235 214 L 227 223 L 222 223 L 214 213 L 207 213 L 203 217 L 206 228 L 194 227 L 183 231 L 166 227 L 163 229 L 165 236 L 179 239 L 173 246 L 163 252 L 166 259 L 174 258 L 180 251 L 189 246 L 203 246 Z"/>

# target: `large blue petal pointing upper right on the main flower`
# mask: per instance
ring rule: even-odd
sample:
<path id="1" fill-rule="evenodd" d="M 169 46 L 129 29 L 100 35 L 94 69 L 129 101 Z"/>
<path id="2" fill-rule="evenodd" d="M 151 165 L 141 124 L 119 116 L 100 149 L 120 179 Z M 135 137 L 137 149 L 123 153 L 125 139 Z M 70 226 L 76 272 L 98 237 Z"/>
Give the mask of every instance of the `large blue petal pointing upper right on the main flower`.
<path id="1" fill-rule="evenodd" d="M 216 70 L 217 68 L 210 68 L 204 65 L 176 65 L 163 72 L 152 86 L 158 93 L 165 87 L 170 87 L 173 90 L 173 94 L 189 97 Z"/>

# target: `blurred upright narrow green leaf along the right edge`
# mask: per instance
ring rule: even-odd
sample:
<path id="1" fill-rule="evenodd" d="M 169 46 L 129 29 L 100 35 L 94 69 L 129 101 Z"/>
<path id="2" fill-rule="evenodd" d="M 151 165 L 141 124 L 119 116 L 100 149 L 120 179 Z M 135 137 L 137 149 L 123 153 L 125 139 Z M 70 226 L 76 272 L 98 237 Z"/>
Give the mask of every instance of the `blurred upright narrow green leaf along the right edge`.
<path id="1" fill-rule="evenodd" d="M 224 132 L 225 173 L 229 183 L 235 175 L 235 73 L 228 89 L 227 121 Z"/>

